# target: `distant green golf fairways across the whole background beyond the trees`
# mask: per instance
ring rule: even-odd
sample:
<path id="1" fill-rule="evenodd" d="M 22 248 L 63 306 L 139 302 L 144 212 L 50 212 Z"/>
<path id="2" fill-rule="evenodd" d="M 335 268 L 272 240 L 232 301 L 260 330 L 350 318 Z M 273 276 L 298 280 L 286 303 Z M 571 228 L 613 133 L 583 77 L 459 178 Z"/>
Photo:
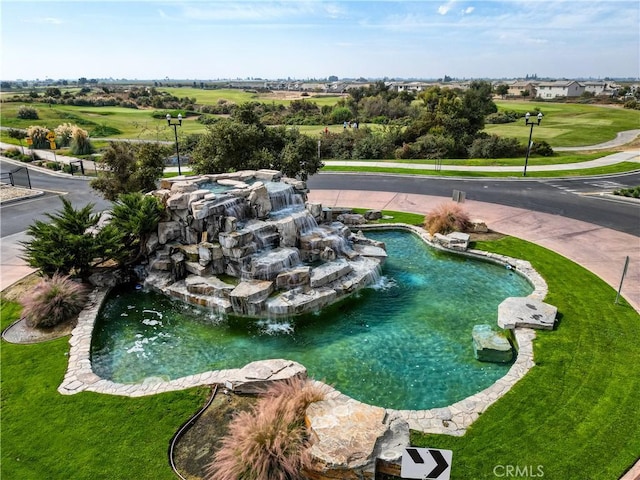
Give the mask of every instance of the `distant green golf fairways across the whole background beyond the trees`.
<path id="1" fill-rule="evenodd" d="M 167 88 L 163 89 L 179 97 L 196 97 L 200 103 L 212 104 L 224 98 L 234 103 L 242 103 L 250 100 L 274 101 L 287 103 L 285 100 L 267 100 L 266 98 L 254 98 L 256 94 L 235 89 L 200 90 L 195 88 Z M 319 105 L 333 105 L 339 97 L 317 97 L 312 100 Z M 516 110 L 524 113 L 533 111 L 537 106 L 545 117 L 540 126 L 534 127 L 534 140 L 546 140 L 552 147 L 593 145 L 615 138 L 617 132 L 640 128 L 640 111 L 623 108 L 612 108 L 594 105 L 501 101 L 497 102 L 501 110 Z M 33 103 L 31 106 L 38 110 L 39 120 L 21 120 L 17 118 L 20 103 L 3 103 L 0 110 L 0 124 L 5 127 L 27 128 L 30 125 L 43 125 L 53 129 L 61 123 L 75 123 L 93 137 L 103 137 L 102 127 L 117 129 L 120 133 L 107 136 L 119 139 L 145 139 L 171 141 L 174 138 L 173 128 L 169 128 L 166 121 L 154 118 L 156 112 L 153 109 L 136 110 L 121 107 L 75 107 L 68 105 L 49 105 L 46 103 Z M 371 125 L 372 128 L 380 128 Z M 316 135 L 322 133 L 324 125 L 301 125 L 301 132 Z M 341 125 L 331 125 L 329 129 L 338 133 Z M 203 133 L 205 125 L 198 123 L 196 117 L 185 117 L 182 126 L 178 128 L 179 135 L 189 133 Z M 529 127 L 523 121 L 487 125 L 485 131 L 500 136 L 516 137 L 526 143 L 529 135 Z M 3 141 L 7 138 L 3 132 Z"/>

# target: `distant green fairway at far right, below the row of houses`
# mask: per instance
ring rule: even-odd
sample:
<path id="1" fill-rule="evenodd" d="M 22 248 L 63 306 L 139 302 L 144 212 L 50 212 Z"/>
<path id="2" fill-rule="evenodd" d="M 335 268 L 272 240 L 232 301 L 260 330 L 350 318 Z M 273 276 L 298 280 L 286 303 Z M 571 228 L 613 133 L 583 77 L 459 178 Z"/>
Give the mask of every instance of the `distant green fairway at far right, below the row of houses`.
<path id="1" fill-rule="evenodd" d="M 533 141 L 545 140 L 552 147 L 595 145 L 613 140 L 618 132 L 640 128 L 640 111 L 621 107 L 525 101 L 497 101 L 496 105 L 499 111 L 514 110 L 522 114 L 538 107 L 544 118 L 540 125 L 533 127 Z M 486 125 L 485 131 L 518 138 L 526 145 L 530 127 L 521 120 Z"/>

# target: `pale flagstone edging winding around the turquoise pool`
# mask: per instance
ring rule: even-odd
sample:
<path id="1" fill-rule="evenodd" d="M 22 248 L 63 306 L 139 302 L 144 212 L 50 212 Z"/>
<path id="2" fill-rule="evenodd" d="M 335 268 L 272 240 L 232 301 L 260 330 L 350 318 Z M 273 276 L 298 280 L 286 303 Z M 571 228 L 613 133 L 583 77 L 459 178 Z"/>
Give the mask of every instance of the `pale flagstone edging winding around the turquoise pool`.
<path id="1" fill-rule="evenodd" d="M 355 230 L 356 228 L 354 227 L 353 229 Z M 511 265 L 516 272 L 525 276 L 534 287 L 534 292 L 529 295 L 530 298 L 543 300 L 547 294 L 546 282 L 531 267 L 531 264 L 525 260 L 513 259 L 481 250 L 460 251 L 444 248 L 434 243 L 426 231 L 408 224 L 359 225 L 357 229 L 409 230 L 417 234 L 433 248 L 484 259 L 504 266 Z M 247 392 L 258 389 L 251 385 L 263 385 L 265 382 L 293 376 L 306 376 L 306 369 L 303 365 L 289 360 L 277 359 L 252 362 L 240 369 L 208 371 L 168 381 L 159 377 L 152 377 L 145 379 L 142 383 L 122 384 L 103 379 L 96 375 L 91 368 L 91 339 L 96 318 L 110 290 L 111 288 L 108 287 L 93 290 L 90 294 L 88 306 L 78 317 L 78 323 L 69 339 L 68 368 L 61 385 L 58 387 L 58 392 L 63 395 L 91 391 L 108 395 L 141 397 L 212 384 L 232 385 L 238 390 L 242 389 Z M 480 414 L 508 392 L 534 366 L 533 339 L 535 338 L 535 331 L 529 328 L 515 328 L 513 334 L 518 355 L 507 374 L 493 385 L 447 407 L 428 410 L 385 409 L 387 416 L 400 416 L 407 421 L 409 428 L 425 433 L 463 435 Z M 329 385 L 327 387 L 327 399 L 364 407 L 380 408 L 354 400 Z"/>

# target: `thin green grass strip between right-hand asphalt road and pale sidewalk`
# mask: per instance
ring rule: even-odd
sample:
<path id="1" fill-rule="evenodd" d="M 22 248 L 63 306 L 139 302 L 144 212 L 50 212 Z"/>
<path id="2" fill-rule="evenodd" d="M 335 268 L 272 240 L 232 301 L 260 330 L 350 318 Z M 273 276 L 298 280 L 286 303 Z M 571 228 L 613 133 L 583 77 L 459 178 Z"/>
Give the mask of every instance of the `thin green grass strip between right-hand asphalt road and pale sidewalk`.
<path id="1" fill-rule="evenodd" d="M 524 165 L 524 162 L 523 162 Z M 529 162 L 529 167 L 536 165 L 535 162 Z M 433 169 L 416 169 L 416 168 L 394 168 L 394 167 L 350 167 L 339 165 L 325 165 L 322 172 L 370 172 L 370 173 L 388 173 L 395 175 L 428 175 L 438 177 L 521 177 L 522 172 L 469 172 L 447 170 L 443 165 L 442 170 Z M 527 177 L 539 178 L 555 178 L 555 177 L 580 177 L 590 175 L 608 175 L 612 173 L 634 172 L 638 170 L 638 164 L 633 162 L 621 162 L 614 165 L 604 167 L 584 168 L 576 170 L 553 170 L 548 172 L 535 172 L 527 170 Z"/>

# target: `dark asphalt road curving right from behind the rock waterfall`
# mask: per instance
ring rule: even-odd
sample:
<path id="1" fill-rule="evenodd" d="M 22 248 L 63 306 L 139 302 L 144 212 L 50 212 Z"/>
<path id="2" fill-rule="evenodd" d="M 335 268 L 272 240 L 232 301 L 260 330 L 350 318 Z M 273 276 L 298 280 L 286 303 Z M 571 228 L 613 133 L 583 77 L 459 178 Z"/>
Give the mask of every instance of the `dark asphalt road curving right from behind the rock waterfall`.
<path id="1" fill-rule="evenodd" d="M 449 198 L 458 190 L 469 200 L 560 215 L 640 236 L 640 203 L 601 196 L 640 185 L 640 173 L 537 180 L 322 173 L 309 178 L 307 185 L 311 190 L 402 192 Z"/>

